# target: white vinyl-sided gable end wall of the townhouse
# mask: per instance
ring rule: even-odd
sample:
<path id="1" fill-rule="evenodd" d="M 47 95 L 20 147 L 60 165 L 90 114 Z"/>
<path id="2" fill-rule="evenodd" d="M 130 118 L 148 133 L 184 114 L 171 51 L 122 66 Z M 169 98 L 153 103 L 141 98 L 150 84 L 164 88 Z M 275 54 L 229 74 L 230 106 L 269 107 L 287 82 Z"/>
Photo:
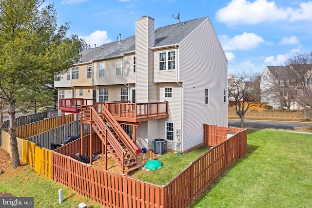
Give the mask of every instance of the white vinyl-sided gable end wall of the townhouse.
<path id="1" fill-rule="evenodd" d="M 181 148 L 187 151 L 202 144 L 204 123 L 228 126 L 228 106 L 223 102 L 228 80 L 227 59 L 209 18 L 180 42 L 177 57 L 177 79 L 183 83 Z M 207 83 L 209 105 L 204 104 Z"/>

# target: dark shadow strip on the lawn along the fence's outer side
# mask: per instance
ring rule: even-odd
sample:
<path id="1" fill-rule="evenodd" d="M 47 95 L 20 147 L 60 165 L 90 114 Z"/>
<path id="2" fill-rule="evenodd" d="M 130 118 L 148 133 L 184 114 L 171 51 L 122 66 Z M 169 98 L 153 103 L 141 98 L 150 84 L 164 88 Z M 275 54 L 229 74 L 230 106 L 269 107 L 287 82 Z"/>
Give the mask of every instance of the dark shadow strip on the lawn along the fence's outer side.
<path id="1" fill-rule="evenodd" d="M 254 130 L 253 130 L 254 131 Z M 259 130 L 256 130 L 259 131 Z M 224 170 L 215 180 L 214 182 L 209 185 L 209 187 L 202 192 L 202 194 L 195 199 L 195 201 L 190 205 L 189 208 L 194 208 L 196 206 L 196 204 L 198 202 L 200 202 L 201 200 L 203 200 L 205 198 L 205 196 L 212 190 L 215 188 L 215 186 L 232 170 L 235 168 L 236 165 L 238 165 L 239 163 L 241 163 L 242 161 L 244 161 L 245 159 L 247 159 L 249 157 L 249 155 L 251 155 L 252 153 L 254 153 L 254 151 L 256 151 L 259 148 L 259 146 L 255 146 L 255 145 L 247 145 L 247 152 L 246 154 L 244 154 L 241 158 L 239 158 L 238 160 L 236 160 L 230 167 L 228 167 L 226 170 Z"/>

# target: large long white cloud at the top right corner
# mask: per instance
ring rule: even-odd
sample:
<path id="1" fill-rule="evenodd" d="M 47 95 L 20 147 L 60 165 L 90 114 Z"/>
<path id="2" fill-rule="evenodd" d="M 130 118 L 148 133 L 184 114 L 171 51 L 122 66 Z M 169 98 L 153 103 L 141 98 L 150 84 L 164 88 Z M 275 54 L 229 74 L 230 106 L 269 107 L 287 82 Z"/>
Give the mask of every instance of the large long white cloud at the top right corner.
<path id="1" fill-rule="evenodd" d="M 312 1 L 302 2 L 299 8 L 279 7 L 275 1 L 232 0 L 216 12 L 216 19 L 228 25 L 258 24 L 279 20 L 312 20 Z"/>

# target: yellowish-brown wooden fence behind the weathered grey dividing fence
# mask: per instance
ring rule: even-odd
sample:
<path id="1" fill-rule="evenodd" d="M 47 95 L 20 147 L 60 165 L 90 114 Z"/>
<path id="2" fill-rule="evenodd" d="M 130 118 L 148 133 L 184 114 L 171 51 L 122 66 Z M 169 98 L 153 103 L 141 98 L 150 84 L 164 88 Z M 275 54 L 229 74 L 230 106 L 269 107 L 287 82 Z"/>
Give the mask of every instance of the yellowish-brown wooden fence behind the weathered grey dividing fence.
<path id="1" fill-rule="evenodd" d="M 65 123 L 74 121 L 74 114 L 65 115 Z M 62 116 L 55 116 L 16 128 L 16 136 L 22 139 L 46 132 L 62 125 Z"/>

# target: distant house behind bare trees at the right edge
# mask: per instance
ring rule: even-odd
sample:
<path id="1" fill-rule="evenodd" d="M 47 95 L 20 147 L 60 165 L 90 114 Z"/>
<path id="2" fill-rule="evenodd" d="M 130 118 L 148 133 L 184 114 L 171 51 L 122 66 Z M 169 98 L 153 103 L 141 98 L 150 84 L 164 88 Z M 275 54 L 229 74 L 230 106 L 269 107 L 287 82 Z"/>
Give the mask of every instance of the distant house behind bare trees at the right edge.
<path id="1" fill-rule="evenodd" d="M 273 109 L 301 110 L 303 105 L 296 100 L 302 100 L 303 88 L 309 88 L 311 84 L 309 65 L 302 65 L 302 68 L 300 65 L 266 66 L 260 81 L 261 101 Z"/>

